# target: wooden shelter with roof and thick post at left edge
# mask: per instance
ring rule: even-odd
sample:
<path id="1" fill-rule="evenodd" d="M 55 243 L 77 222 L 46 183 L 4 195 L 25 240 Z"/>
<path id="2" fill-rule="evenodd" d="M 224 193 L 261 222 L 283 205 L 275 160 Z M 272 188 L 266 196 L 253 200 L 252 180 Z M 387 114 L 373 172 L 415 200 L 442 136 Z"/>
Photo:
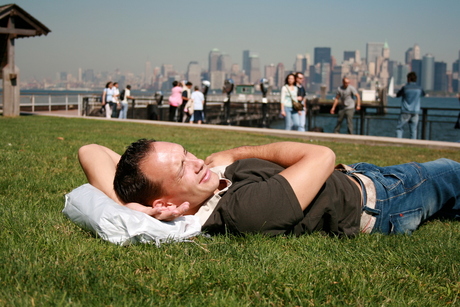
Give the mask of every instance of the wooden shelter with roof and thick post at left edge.
<path id="1" fill-rule="evenodd" d="M 41 22 L 16 4 L 0 6 L 0 78 L 3 79 L 3 116 L 19 116 L 19 69 L 14 62 L 16 38 L 47 35 Z"/>

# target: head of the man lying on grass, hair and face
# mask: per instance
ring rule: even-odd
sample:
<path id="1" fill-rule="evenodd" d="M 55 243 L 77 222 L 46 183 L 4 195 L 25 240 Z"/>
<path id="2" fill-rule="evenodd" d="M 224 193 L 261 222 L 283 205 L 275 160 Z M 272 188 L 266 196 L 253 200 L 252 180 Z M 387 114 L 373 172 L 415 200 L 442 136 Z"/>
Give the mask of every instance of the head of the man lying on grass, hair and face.
<path id="1" fill-rule="evenodd" d="M 144 206 L 198 207 L 219 186 L 218 176 L 175 143 L 139 140 L 120 159 L 114 187 L 124 202 Z"/>

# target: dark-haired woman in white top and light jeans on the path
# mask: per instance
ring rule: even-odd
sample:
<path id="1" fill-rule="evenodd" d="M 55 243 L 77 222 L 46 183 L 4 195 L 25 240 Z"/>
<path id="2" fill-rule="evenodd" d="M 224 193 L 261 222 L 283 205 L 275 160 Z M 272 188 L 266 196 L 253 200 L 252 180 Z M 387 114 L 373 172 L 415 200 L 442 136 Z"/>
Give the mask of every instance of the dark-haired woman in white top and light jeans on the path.
<path id="1" fill-rule="evenodd" d="M 284 116 L 286 130 L 300 131 L 300 111 L 292 107 L 293 99 L 297 99 L 297 86 L 294 74 L 289 74 L 281 88 L 281 115 Z"/>

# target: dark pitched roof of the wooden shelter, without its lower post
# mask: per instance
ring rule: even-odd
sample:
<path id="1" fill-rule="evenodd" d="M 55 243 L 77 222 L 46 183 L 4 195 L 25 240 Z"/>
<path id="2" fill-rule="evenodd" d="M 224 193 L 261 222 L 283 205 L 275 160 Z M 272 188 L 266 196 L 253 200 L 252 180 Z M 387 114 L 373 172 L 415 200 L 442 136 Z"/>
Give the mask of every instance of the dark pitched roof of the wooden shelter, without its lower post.
<path id="1" fill-rule="evenodd" d="M 8 40 L 47 35 L 49 32 L 50 29 L 18 5 L 0 6 L 0 68 L 8 62 Z M 0 78 L 3 78 L 1 70 Z"/>

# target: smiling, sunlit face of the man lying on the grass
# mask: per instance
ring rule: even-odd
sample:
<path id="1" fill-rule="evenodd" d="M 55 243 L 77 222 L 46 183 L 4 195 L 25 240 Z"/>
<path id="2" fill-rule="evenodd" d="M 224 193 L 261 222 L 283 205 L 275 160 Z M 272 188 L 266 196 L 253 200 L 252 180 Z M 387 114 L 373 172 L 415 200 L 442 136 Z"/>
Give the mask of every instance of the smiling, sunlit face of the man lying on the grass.
<path id="1" fill-rule="evenodd" d="M 162 182 L 167 202 L 184 202 L 197 207 L 211 197 L 219 186 L 219 177 L 193 154 L 175 143 L 155 142 L 155 150 L 140 165 L 149 178 Z"/>

